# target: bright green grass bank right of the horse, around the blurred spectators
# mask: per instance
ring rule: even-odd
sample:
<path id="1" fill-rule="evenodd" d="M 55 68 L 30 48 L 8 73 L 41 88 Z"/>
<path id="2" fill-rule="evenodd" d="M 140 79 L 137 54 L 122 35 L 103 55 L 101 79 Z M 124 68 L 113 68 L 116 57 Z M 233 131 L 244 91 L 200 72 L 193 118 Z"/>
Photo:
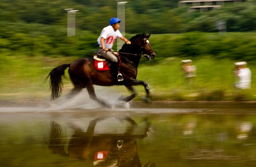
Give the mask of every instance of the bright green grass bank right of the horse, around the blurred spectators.
<path id="1" fill-rule="evenodd" d="M 190 59 L 197 68 L 197 77 L 192 83 L 184 80 L 180 67 L 181 58 L 170 57 L 150 66 L 139 67 L 138 79 L 147 81 L 152 89 L 152 100 L 253 101 L 256 99 L 253 64 L 248 63 L 252 71 L 251 89 L 239 91 L 233 88 L 235 79 L 232 74 L 232 65 L 234 61 L 212 57 Z"/>

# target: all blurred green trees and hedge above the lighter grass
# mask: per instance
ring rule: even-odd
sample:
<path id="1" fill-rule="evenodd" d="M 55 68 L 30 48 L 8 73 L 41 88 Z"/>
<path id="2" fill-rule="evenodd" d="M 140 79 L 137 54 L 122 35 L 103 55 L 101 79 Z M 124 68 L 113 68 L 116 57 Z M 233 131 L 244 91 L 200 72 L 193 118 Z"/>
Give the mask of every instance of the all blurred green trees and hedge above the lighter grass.
<path id="1" fill-rule="evenodd" d="M 255 55 L 255 1 L 229 4 L 219 11 L 188 12 L 178 1 L 131 0 L 126 4 L 126 37 L 137 33 L 161 34 L 151 43 L 158 57 L 213 55 L 248 61 Z M 76 36 L 67 36 L 67 12 L 76 12 Z M 116 17 L 115 0 L 2 0 L 0 53 L 12 55 L 91 56 L 98 49 L 103 27 Z M 227 22 L 228 33 L 218 35 L 215 21 Z M 198 33 L 216 32 L 216 33 Z M 172 35 L 166 35 L 166 34 Z M 175 33 L 175 34 L 174 34 Z"/>

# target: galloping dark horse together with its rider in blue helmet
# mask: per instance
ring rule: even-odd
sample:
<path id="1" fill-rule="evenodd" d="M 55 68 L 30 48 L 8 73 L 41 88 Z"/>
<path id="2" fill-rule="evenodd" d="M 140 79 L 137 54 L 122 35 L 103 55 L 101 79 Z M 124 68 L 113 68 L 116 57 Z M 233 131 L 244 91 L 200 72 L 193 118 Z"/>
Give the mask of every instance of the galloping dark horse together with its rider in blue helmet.
<path id="1" fill-rule="evenodd" d="M 138 94 L 133 86 L 142 85 L 146 90 L 147 95 L 144 99 L 147 101 L 150 95 L 148 84 L 136 78 L 140 58 L 145 56 L 150 61 L 153 60 L 156 55 L 148 40 L 150 34 L 137 34 L 131 37 L 130 40 L 127 40 L 118 30 L 120 21 L 121 20 L 116 17 L 112 18 L 110 25 L 103 28 L 98 39 L 100 50 L 97 55 L 102 55 L 109 61 L 103 61 L 102 59 L 97 61 L 92 57 L 83 57 L 70 64 L 62 64 L 52 69 L 48 75 L 48 77 L 50 77 L 50 87 L 52 90 L 51 100 L 59 98 L 61 95 L 63 88 L 61 77 L 64 75 L 65 69 L 69 68 L 68 73 L 74 84 L 73 90 L 68 94 L 69 98 L 78 94 L 83 88 L 87 88 L 91 99 L 97 101 L 102 106 L 112 107 L 96 96 L 93 85 L 124 85 L 132 92 L 132 95 L 118 99 L 120 102 L 124 103 L 131 101 Z M 118 56 L 114 55 L 112 50 L 116 38 L 120 38 L 125 42 L 123 47 L 119 50 Z M 46 80 L 48 77 L 46 77 Z"/>

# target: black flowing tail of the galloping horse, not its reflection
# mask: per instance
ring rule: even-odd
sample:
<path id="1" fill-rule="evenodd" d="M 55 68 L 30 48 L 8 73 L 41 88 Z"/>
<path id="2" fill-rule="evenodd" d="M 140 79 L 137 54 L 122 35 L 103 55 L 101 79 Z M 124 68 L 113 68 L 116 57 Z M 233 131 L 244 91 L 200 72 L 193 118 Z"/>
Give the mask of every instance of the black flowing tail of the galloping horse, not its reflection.
<path id="1" fill-rule="evenodd" d="M 61 83 L 61 77 L 65 74 L 65 69 L 69 67 L 69 64 L 62 64 L 56 68 L 53 68 L 45 81 L 50 76 L 50 89 L 52 90 L 51 100 L 59 98 L 62 93 L 63 85 Z"/>

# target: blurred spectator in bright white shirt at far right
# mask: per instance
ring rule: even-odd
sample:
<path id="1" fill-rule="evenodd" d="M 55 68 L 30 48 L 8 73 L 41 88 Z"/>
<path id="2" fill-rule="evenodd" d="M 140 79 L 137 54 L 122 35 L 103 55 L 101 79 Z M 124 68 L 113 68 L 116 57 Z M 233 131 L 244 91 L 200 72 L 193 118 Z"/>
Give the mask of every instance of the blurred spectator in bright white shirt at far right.
<path id="1" fill-rule="evenodd" d="M 235 65 L 238 66 L 238 69 L 234 71 L 237 77 L 237 81 L 234 86 L 239 89 L 251 88 L 252 72 L 249 68 L 247 68 L 247 63 L 242 61 L 235 63 Z"/>

